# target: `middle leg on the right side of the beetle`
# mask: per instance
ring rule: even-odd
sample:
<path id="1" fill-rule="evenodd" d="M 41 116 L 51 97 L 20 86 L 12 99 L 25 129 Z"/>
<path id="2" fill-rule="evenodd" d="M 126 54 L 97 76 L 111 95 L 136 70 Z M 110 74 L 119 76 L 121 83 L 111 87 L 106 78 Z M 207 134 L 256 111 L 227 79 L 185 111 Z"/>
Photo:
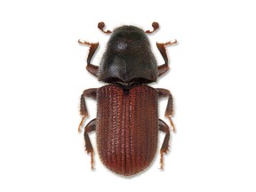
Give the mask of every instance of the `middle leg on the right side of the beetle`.
<path id="1" fill-rule="evenodd" d="M 172 132 L 176 132 L 175 126 L 172 122 L 172 115 L 173 115 L 173 103 L 172 103 L 172 94 L 169 90 L 166 89 L 156 89 L 158 93 L 158 98 L 168 97 L 168 103 L 165 110 L 165 116 L 169 119 L 170 124 L 172 125 Z"/>

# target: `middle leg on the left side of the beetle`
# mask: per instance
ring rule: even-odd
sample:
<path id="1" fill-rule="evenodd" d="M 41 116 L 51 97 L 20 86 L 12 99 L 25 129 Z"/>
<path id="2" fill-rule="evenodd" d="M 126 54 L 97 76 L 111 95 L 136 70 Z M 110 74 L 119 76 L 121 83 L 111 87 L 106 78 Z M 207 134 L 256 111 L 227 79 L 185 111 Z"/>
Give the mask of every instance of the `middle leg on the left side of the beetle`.
<path id="1" fill-rule="evenodd" d="M 93 89 L 87 89 L 84 90 L 83 94 L 81 95 L 80 98 L 80 114 L 82 117 L 82 120 L 78 126 L 78 132 L 81 132 L 81 126 L 84 124 L 84 119 L 88 116 L 88 111 L 86 108 L 86 103 L 85 103 L 85 97 L 86 98 L 92 98 L 94 100 L 96 100 L 96 93 L 97 93 L 97 89 L 93 88 Z"/>

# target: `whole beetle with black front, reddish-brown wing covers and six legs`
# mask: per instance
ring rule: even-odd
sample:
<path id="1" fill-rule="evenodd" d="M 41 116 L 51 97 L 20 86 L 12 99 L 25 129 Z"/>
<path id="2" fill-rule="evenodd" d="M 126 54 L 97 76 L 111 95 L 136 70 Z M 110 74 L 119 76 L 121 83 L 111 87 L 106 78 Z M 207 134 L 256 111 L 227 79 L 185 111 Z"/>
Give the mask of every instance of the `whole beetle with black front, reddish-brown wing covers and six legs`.
<path id="1" fill-rule="evenodd" d="M 165 116 L 175 132 L 172 94 L 165 89 L 148 86 L 156 82 L 168 69 L 166 45 L 176 44 L 177 40 L 165 44 L 156 43 L 164 58 L 164 64 L 157 66 L 151 51 L 147 34 L 159 28 L 152 23 L 153 30 L 143 31 L 134 26 L 121 26 L 112 31 L 105 30 L 105 23 L 98 28 L 111 34 L 107 49 L 103 53 L 100 66 L 91 63 L 99 43 L 78 40 L 79 44 L 90 46 L 86 69 L 107 83 L 100 88 L 84 90 L 80 100 L 80 114 L 83 116 L 78 131 L 88 116 L 85 98 L 97 101 L 97 117 L 84 127 L 85 150 L 91 154 L 93 169 L 93 148 L 88 133 L 96 131 L 97 149 L 100 160 L 109 170 L 123 176 L 132 176 L 145 170 L 156 156 L 158 131 L 165 132 L 160 149 L 160 164 L 163 169 L 163 154 L 167 153 L 170 129 L 158 118 L 157 101 L 168 98 Z"/>

